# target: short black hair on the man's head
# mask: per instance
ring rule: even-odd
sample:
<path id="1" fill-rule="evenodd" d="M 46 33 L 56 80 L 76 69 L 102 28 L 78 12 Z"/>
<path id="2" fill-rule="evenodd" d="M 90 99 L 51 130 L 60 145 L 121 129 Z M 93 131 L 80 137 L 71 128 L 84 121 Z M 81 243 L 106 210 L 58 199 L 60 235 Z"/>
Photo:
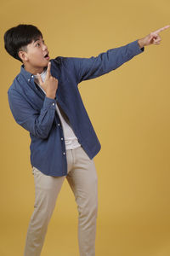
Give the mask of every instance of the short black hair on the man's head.
<path id="1" fill-rule="evenodd" d="M 39 31 L 37 26 L 20 24 L 5 32 L 4 47 L 9 55 L 21 61 L 19 51 L 26 50 L 26 45 L 31 44 L 33 40 L 39 37 L 42 37 L 42 32 Z"/>

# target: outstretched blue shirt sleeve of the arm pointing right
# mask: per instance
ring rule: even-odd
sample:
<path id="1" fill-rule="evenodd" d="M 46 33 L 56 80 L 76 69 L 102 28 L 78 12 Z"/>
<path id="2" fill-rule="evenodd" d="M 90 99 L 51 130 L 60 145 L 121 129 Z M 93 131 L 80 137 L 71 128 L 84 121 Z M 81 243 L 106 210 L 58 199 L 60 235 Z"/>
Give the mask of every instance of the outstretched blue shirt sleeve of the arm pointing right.
<path id="1" fill-rule="evenodd" d="M 74 58 L 65 57 L 67 67 L 76 74 L 77 83 L 83 80 L 95 79 L 120 67 L 124 62 L 131 60 L 135 55 L 144 51 L 140 49 L 138 40 L 122 47 L 109 49 L 97 57 Z"/>

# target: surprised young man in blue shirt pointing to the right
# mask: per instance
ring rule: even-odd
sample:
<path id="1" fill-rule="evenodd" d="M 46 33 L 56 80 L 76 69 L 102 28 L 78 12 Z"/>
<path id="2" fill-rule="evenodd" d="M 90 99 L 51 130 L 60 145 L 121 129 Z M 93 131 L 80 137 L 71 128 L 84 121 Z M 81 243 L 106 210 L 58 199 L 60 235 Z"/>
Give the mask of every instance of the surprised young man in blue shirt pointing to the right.
<path id="1" fill-rule="evenodd" d="M 52 60 L 36 26 L 19 25 L 5 33 L 5 49 L 23 63 L 8 90 L 8 102 L 16 122 L 30 131 L 36 188 L 25 256 L 41 254 L 65 177 L 77 201 L 80 255 L 95 255 L 98 189 L 94 156 L 100 144 L 77 84 L 120 67 L 146 45 L 160 44 L 159 32 L 167 27 L 97 57 L 58 56 Z"/>

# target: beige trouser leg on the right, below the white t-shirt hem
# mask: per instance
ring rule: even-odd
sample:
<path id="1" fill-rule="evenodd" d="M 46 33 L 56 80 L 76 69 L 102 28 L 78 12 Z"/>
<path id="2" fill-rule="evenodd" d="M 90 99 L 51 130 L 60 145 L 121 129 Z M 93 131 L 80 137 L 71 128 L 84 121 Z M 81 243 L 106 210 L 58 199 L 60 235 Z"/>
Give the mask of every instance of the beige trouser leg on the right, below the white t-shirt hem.
<path id="1" fill-rule="evenodd" d="M 78 242 L 81 256 L 95 255 L 96 218 L 98 211 L 98 178 L 94 160 L 82 147 L 72 150 L 74 166 L 67 175 L 77 201 Z"/>

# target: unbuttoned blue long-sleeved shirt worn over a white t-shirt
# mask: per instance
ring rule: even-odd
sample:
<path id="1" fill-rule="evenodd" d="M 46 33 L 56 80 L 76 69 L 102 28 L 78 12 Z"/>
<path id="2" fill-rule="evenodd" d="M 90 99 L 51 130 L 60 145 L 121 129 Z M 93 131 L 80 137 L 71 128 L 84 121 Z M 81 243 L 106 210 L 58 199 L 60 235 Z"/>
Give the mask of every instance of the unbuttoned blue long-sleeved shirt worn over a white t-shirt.
<path id="1" fill-rule="evenodd" d="M 109 49 L 97 57 L 62 57 L 51 60 L 51 74 L 59 80 L 56 99 L 50 99 L 34 83 L 34 75 L 21 66 L 20 73 L 8 89 L 8 102 L 16 122 L 30 132 L 31 166 L 54 177 L 67 175 L 65 140 L 55 103 L 68 116 L 79 143 L 93 159 L 100 143 L 82 103 L 78 84 L 95 79 L 120 67 L 143 52 L 138 40 Z"/>

